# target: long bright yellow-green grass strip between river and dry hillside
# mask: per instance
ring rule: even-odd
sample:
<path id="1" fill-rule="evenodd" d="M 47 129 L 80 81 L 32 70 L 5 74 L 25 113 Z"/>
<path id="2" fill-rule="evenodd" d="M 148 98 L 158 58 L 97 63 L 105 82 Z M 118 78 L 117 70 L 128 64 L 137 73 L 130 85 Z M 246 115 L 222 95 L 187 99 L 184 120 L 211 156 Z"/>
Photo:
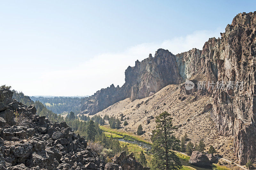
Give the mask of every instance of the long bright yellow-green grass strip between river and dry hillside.
<path id="1" fill-rule="evenodd" d="M 117 134 L 117 135 L 124 136 L 125 139 L 130 140 L 130 141 L 136 140 L 136 141 L 139 141 L 139 142 L 152 144 L 152 143 L 142 139 L 142 137 L 139 136 L 139 135 L 134 135 L 134 134 L 128 133 L 128 132 L 122 132 L 122 131 L 119 131 L 117 129 L 111 129 L 109 126 L 100 126 L 100 129 L 102 129 L 104 132 L 109 132 L 109 133 L 114 133 L 114 134 Z"/>

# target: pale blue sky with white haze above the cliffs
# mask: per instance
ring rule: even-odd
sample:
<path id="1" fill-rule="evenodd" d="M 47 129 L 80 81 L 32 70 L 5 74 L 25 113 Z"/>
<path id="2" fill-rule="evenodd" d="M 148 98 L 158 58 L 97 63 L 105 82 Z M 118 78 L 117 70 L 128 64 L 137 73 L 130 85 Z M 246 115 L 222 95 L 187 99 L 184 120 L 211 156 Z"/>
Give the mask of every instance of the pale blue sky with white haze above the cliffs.
<path id="1" fill-rule="evenodd" d="M 202 49 L 256 1 L 0 0 L 0 85 L 86 96 L 159 48 Z"/>

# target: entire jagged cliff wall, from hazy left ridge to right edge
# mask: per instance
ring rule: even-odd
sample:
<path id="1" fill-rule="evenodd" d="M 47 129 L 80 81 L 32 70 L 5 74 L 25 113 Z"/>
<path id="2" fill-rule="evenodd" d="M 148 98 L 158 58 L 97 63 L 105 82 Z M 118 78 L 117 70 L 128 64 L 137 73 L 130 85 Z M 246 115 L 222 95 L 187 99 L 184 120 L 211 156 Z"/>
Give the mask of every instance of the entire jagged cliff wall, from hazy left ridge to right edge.
<path id="1" fill-rule="evenodd" d="M 81 112 L 92 115 L 125 98 L 141 99 L 169 84 L 180 84 L 184 95 L 212 97 L 212 120 L 220 135 L 233 136 L 238 163 L 256 160 L 256 12 L 237 14 L 220 35 L 205 42 L 203 50 L 173 55 L 159 49 L 154 58 L 150 54 L 137 60 L 126 69 L 122 87 L 97 91 L 84 100 Z M 195 84 L 193 89 L 185 88 L 186 80 Z M 200 82 L 204 89 L 197 88 Z M 224 83 L 223 88 L 217 88 L 218 82 Z"/>

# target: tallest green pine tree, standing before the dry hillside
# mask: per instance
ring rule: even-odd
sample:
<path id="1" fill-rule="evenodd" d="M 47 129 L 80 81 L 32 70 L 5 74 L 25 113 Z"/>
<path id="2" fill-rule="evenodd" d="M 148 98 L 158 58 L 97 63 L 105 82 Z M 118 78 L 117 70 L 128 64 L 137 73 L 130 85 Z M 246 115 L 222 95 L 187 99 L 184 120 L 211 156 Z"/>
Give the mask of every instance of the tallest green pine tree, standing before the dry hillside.
<path id="1" fill-rule="evenodd" d="M 156 117 L 156 130 L 151 136 L 152 152 L 154 152 L 151 164 L 155 169 L 177 170 L 181 169 L 179 157 L 174 151 L 179 145 L 179 140 L 172 135 L 176 129 L 172 125 L 172 118 L 168 112 L 163 112 Z"/>

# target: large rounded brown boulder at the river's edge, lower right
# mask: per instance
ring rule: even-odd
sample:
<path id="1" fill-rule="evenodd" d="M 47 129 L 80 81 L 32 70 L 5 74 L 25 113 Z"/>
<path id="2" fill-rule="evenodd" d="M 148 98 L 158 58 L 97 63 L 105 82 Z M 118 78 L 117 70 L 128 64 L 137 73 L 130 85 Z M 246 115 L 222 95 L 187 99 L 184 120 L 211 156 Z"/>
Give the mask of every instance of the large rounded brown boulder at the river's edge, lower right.
<path id="1" fill-rule="evenodd" d="M 188 161 L 190 164 L 196 166 L 210 166 L 209 158 L 202 152 L 193 151 Z"/>

